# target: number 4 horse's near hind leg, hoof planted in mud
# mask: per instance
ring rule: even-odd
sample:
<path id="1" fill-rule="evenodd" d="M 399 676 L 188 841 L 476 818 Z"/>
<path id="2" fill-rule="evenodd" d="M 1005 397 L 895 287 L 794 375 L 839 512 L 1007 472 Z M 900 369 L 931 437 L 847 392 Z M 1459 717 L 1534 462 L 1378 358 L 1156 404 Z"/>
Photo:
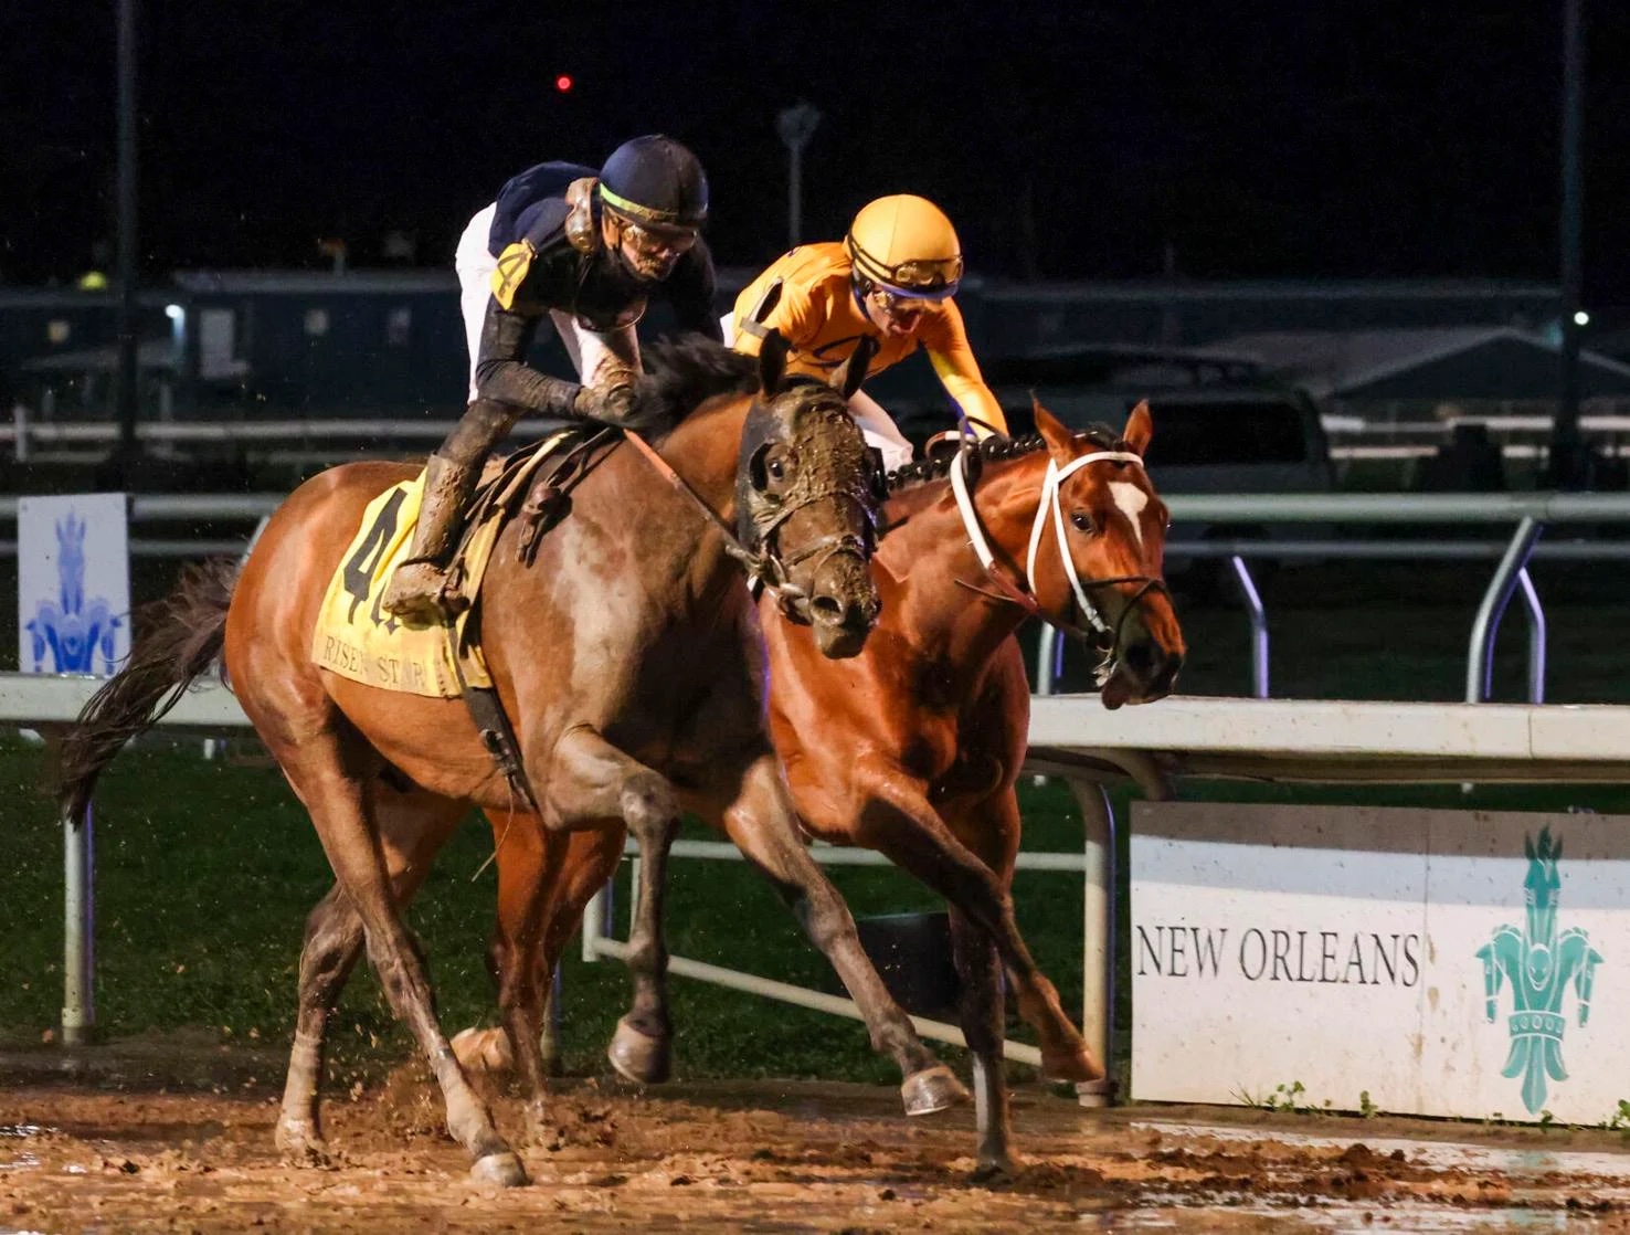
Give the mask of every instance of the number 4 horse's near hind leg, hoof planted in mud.
<path id="1" fill-rule="evenodd" d="M 442 1085 L 448 1132 L 469 1152 L 474 1175 L 510 1186 L 525 1183 L 520 1158 L 499 1135 L 491 1111 L 469 1087 L 437 1023 L 430 982 L 391 896 L 380 832 L 372 819 L 375 768 L 368 767 L 360 742 L 352 739 L 347 749 L 342 737 L 321 734 L 297 750 L 279 754 L 341 888 L 362 917 L 368 958 L 391 1010 L 406 1021 Z"/>

